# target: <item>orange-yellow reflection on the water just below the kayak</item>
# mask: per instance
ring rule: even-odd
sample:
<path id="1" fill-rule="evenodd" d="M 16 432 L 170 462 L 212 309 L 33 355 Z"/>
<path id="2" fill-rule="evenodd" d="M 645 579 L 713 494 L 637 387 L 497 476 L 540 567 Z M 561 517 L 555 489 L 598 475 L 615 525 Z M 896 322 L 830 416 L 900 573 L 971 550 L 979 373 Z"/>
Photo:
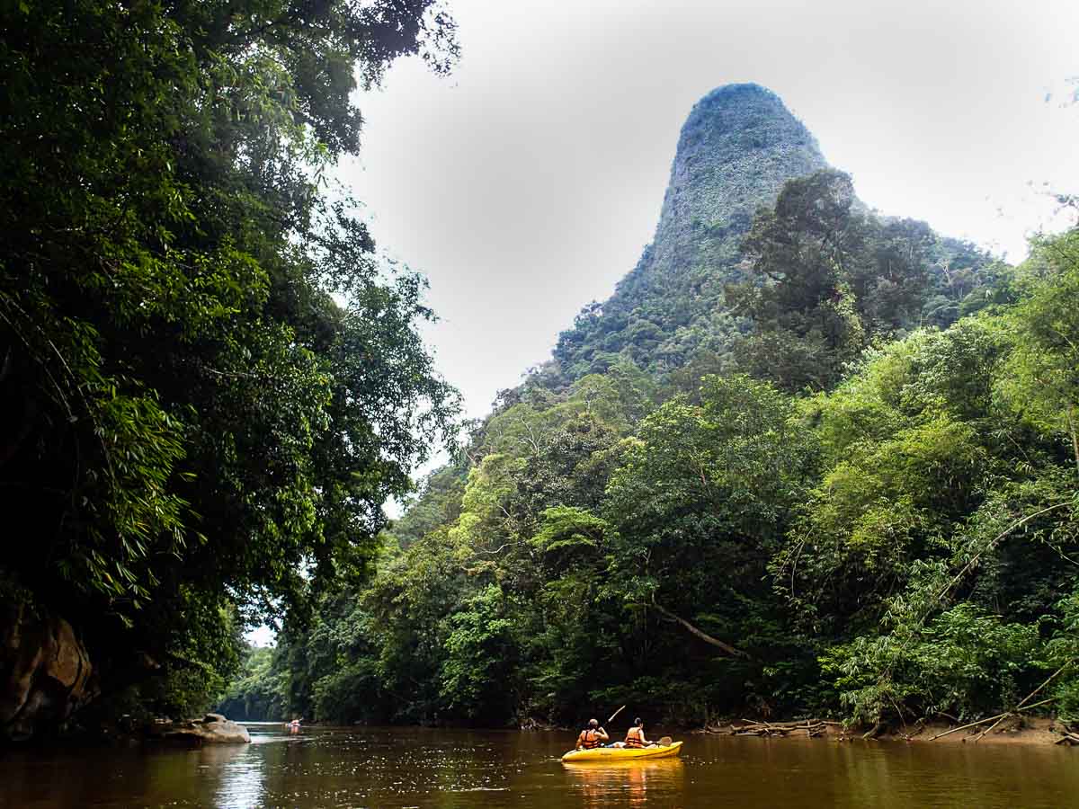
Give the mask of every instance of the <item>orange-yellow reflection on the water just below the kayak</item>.
<path id="1" fill-rule="evenodd" d="M 670 796 L 682 791 L 685 765 L 680 758 L 655 762 L 602 762 L 563 764 L 571 790 L 579 792 L 585 806 L 614 803 L 644 806 L 648 797 Z"/>

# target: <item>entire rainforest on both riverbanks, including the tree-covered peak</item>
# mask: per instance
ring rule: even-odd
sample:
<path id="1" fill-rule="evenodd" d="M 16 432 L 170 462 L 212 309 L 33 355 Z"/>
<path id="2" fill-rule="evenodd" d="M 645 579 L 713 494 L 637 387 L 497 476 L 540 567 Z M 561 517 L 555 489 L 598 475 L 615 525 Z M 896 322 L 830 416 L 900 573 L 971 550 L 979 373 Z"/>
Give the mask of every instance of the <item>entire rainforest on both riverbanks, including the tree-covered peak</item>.
<path id="1" fill-rule="evenodd" d="M 36 516 L 0 601 L 93 677 L 18 691 L 9 642 L 9 736 L 210 704 L 1079 718 L 1079 230 L 1012 266 L 879 215 L 774 94 L 721 87 L 637 268 L 462 425 L 422 279 L 327 180 L 356 82 L 449 69 L 452 19 L 68 5 L 0 46 L 0 497 Z"/>

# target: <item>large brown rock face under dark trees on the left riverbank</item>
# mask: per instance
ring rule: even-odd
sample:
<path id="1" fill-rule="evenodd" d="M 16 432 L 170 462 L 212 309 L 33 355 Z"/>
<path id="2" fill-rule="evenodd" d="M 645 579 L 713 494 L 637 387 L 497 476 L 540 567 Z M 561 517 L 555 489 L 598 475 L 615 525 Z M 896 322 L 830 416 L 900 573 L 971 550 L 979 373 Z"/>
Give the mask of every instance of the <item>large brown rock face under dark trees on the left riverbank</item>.
<path id="1" fill-rule="evenodd" d="M 71 625 L 25 605 L 0 614 L 0 738 L 52 731 L 98 694 L 90 657 Z"/>

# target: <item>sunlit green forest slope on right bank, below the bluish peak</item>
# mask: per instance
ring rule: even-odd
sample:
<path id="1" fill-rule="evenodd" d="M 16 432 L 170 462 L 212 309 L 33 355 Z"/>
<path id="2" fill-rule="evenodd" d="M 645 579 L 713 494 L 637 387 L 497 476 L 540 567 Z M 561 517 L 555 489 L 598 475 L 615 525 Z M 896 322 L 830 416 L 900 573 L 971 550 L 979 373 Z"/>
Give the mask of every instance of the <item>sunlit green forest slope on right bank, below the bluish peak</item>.
<path id="1" fill-rule="evenodd" d="M 821 172 L 759 212 L 724 373 L 623 353 L 506 392 L 282 639 L 291 710 L 898 725 L 1055 674 L 1075 716 L 1079 231 L 1011 269 L 851 201 Z"/>

